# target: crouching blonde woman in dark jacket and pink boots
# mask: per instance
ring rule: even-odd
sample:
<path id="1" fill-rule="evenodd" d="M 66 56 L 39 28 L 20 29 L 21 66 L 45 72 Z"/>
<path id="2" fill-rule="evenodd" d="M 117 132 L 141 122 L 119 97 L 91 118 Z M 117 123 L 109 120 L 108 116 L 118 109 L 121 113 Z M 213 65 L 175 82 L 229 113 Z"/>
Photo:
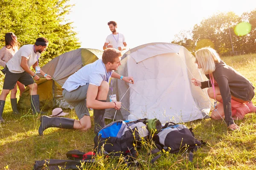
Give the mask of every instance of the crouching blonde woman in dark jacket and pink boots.
<path id="1" fill-rule="evenodd" d="M 251 102 L 254 97 L 252 83 L 221 61 L 217 52 L 212 48 L 201 48 L 196 51 L 195 63 L 209 80 L 201 82 L 192 79 L 192 82 L 202 89 L 208 88 L 209 97 L 219 102 L 217 109 L 212 111 L 212 119 L 224 117 L 228 128 L 239 129 L 233 119 L 243 119 L 245 114 L 256 111 L 256 107 Z"/>

